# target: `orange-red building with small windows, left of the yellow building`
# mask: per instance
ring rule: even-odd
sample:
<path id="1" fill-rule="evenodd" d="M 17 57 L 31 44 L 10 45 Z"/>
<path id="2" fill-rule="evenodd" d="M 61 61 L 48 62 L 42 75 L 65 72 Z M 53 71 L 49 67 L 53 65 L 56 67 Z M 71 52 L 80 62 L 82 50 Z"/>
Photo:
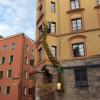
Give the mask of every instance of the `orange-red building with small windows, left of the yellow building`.
<path id="1" fill-rule="evenodd" d="M 32 100 L 34 41 L 24 33 L 0 36 L 0 100 Z"/>

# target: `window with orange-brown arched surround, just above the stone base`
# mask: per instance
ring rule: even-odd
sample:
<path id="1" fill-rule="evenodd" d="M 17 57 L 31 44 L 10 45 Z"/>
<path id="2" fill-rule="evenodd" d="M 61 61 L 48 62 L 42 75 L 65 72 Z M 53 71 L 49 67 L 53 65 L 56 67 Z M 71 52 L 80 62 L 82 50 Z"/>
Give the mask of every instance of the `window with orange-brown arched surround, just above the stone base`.
<path id="1" fill-rule="evenodd" d="M 69 39 L 72 57 L 86 56 L 86 36 L 77 35 Z"/>

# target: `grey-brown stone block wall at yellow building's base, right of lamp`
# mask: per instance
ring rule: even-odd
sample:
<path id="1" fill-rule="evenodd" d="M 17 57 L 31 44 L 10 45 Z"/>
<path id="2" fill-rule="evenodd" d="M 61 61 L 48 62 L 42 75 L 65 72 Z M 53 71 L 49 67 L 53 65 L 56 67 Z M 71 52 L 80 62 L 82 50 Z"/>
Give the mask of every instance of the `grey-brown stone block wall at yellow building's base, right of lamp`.
<path id="1" fill-rule="evenodd" d="M 100 58 L 67 61 L 63 64 L 65 92 L 58 95 L 57 100 L 100 100 L 100 66 L 96 66 L 100 64 Z M 75 86 L 76 67 L 87 69 L 87 87 Z"/>

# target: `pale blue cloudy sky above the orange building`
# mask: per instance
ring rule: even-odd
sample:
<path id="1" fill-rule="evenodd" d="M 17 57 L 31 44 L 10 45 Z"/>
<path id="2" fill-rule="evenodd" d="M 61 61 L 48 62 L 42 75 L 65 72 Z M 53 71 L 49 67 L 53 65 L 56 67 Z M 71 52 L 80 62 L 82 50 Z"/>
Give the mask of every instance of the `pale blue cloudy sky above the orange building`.
<path id="1" fill-rule="evenodd" d="M 36 0 L 0 0 L 0 35 L 20 32 L 35 39 Z"/>

